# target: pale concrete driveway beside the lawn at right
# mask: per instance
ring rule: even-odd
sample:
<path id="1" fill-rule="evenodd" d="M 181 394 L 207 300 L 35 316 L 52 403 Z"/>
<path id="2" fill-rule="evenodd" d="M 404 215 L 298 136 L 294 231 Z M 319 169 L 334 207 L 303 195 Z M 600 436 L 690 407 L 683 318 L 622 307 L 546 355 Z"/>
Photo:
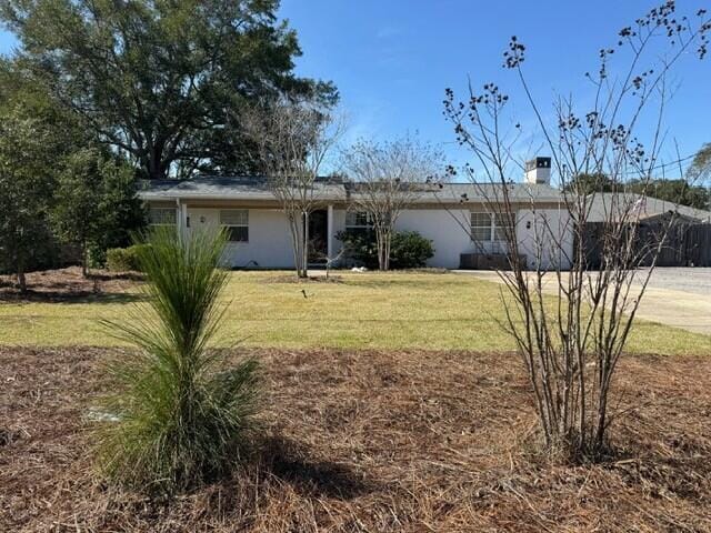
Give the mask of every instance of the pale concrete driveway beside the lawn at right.
<path id="1" fill-rule="evenodd" d="M 501 282 L 495 272 L 459 271 L 487 281 Z M 550 291 L 555 292 L 551 273 Z M 658 268 L 637 315 L 644 320 L 711 335 L 711 268 Z"/>

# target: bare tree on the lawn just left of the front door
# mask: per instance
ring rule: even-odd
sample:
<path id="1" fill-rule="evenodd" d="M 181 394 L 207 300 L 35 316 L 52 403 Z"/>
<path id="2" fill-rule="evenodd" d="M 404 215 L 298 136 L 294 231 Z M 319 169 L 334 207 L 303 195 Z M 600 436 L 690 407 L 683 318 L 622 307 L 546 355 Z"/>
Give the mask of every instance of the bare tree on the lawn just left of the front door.
<path id="1" fill-rule="evenodd" d="M 281 100 L 246 117 L 259 160 L 287 215 L 297 275 L 308 276 L 309 217 L 323 203 L 328 182 L 319 178 L 343 131 L 343 122 L 319 102 Z"/>

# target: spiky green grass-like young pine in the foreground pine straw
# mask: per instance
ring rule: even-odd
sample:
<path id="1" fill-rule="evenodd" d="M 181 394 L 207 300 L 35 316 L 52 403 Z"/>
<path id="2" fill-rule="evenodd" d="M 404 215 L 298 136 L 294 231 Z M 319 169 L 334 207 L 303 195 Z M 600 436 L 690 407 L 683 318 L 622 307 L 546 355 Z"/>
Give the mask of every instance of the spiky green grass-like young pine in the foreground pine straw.
<path id="1" fill-rule="evenodd" d="M 171 493 L 226 474 L 256 412 L 253 360 L 223 370 L 210 343 L 224 308 L 228 272 L 223 232 L 154 232 L 136 248 L 149 305 L 127 322 L 104 322 L 138 350 L 110 363 L 118 393 L 103 409 L 113 422 L 98 428 L 100 469 L 149 492 Z M 220 371 L 222 369 L 222 371 Z"/>

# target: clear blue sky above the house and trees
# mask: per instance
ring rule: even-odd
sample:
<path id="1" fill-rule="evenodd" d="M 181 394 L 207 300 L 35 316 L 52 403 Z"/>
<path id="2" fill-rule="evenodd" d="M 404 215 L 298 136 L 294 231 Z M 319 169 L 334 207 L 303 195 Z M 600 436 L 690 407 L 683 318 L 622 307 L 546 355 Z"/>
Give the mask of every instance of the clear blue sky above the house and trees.
<path id="1" fill-rule="evenodd" d="M 679 11 L 694 13 L 704 1 L 680 0 Z M 541 102 L 557 93 L 584 100 L 590 87 L 583 74 L 595 69 L 598 50 L 660 2 L 282 0 L 280 16 L 299 34 L 298 72 L 338 86 L 349 119 L 347 141 L 417 131 L 461 164 L 468 155 L 452 142 L 442 117 L 444 88 L 462 94 L 468 77 L 474 87 L 495 81 L 511 94 L 517 121 L 532 127 L 514 78 L 501 69 L 512 34 L 528 47 L 525 67 Z M 13 46 L 12 36 L 0 33 L 0 52 Z M 672 81 L 679 89 L 665 118 L 667 160 L 675 159 L 673 140 L 682 157 L 711 141 L 711 57 L 684 58 Z"/>

